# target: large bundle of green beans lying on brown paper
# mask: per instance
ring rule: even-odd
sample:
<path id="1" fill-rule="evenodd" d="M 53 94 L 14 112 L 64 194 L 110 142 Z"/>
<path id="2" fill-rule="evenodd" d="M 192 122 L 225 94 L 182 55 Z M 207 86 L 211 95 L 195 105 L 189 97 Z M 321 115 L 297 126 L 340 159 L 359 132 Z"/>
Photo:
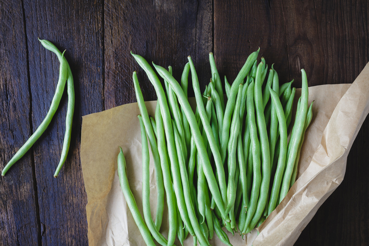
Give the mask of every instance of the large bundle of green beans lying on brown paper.
<path id="1" fill-rule="evenodd" d="M 301 70 L 302 95 L 288 142 L 296 89 L 291 87 L 293 81 L 279 85 L 273 66 L 267 77 L 268 66 L 263 58 L 257 64 L 258 53 L 250 54 L 232 85 L 224 78 L 227 103 L 213 53 L 209 54 L 210 83 L 202 93 L 191 57 L 180 83 L 171 67 L 166 70 L 153 64 L 164 79 L 164 89 L 150 64 L 132 53 L 157 94 L 153 118 L 133 73 L 141 112 L 144 220 L 129 189 L 122 150 L 118 174 L 128 207 L 148 245 L 154 245 L 153 239 L 173 245 L 176 237 L 183 244 L 188 234 L 194 245 L 197 241 L 209 245 L 214 232 L 230 245 L 223 227 L 233 235 L 258 227 L 295 182 L 304 133 L 312 118 L 306 73 Z M 196 112 L 188 101 L 190 70 Z M 155 221 L 149 202 L 147 139 L 156 174 Z M 160 233 L 164 195 L 170 218 L 168 238 Z"/>

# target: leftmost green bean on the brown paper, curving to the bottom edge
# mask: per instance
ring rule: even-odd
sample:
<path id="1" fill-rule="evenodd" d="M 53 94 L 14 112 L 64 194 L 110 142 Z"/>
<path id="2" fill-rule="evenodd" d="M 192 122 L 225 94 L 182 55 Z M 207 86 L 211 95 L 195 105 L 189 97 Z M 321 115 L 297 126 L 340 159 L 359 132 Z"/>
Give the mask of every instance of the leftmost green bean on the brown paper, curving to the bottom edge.
<path id="1" fill-rule="evenodd" d="M 124 158 L 122 148 L 120 148 L 117 162 L 118 162 L 118 176 L 119 176 L 119 181 L 120 181 L 120 187 L 122 188 L 122 192 L 127 202 L 128 208 L 136 222 L 137 227 L 139 228 L 141 232 L 143 239 L 145 240 L 145 243 L 147 245 L 155 246 L 155 243 L 152 240 L 151 234 L 143 218 L 141 217 L 140 211 L 138 210 L 135 198 L 132 192 L 130 191 L 128 179 L 127 179 L 127 173 L 126 173 L 125 158 Z"/>

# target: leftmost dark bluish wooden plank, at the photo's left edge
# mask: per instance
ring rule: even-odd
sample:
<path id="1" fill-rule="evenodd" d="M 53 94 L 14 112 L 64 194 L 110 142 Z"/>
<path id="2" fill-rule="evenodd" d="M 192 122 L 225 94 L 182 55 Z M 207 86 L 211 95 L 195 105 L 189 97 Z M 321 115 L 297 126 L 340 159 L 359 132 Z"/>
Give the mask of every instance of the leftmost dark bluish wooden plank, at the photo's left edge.
<path id="1" fill-rule="evenodd" d="M 30 95 L 27 40 L 21 1 L 0 2 L 1 169 L 29 138 Z M 0 178 L 0 244 L 37 245 L 39 226 L 33 152 Z"/>

